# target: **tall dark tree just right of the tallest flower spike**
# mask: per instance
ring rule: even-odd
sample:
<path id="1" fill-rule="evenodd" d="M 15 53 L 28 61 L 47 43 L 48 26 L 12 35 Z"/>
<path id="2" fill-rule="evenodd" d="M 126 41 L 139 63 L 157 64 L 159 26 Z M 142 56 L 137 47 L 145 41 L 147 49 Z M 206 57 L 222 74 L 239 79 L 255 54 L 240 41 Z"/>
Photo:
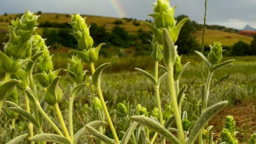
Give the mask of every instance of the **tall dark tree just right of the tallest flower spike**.
<path id="1" fill-rule="evenodd" d="M 177 23 L 186 15 L 180 15 L 177 17 Z M 196 31 L 194 23 L 188 20 L 181 28 L 178 40 L 175 45 L 178 45 L 178 53 L 181 54 L 194 54 L 194 50 L 200 49 L 200 45 L 196 41 L 196 38 L 192 35 Z"/>

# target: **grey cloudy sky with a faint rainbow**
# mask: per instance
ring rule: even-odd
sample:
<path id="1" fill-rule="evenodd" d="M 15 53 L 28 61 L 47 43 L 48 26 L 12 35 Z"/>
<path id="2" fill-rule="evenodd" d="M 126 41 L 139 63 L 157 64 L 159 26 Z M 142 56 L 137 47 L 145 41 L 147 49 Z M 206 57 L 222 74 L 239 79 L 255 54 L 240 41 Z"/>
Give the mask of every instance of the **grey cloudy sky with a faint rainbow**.
<path id="1" fill-rule="evenodd" d="M 77 13 L 109 17 L 151 19 L 156 0 L 0 0 L 0 14 L 33 12 Z M 175 16 L 185 14 L 203 23 L 204 0 L 170 0 Z M 256 0 L 208 0 L 206 23 L 242 29 L 256 28 Z"/>

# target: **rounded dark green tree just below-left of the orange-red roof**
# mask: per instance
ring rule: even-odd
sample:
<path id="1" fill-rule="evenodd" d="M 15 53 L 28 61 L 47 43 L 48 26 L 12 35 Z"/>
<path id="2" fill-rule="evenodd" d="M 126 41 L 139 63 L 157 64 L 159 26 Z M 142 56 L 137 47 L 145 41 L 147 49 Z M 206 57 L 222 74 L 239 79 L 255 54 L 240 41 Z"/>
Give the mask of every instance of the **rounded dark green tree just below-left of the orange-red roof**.
<path id="1" fill-rule="evenodd" d="M 237 43 L 235 43 L 230 50 L 231 56 L 246 56 L 250 55 L 250 53 L 251 52 L 249 44 L 243 41 L 238 41 Z"/>

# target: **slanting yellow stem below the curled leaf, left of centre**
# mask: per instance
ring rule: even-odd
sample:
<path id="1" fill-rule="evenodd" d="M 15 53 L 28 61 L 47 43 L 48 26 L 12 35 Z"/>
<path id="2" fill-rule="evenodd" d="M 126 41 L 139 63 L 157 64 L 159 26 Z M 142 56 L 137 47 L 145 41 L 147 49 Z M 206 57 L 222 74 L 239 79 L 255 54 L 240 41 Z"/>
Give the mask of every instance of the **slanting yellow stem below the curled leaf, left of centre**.
<path id="1" fill-rule="evenodd" d="M 112 131 L 112 134 L 113 134 L 113 136 L 114 136 L 114 138 L 115 138 L 116 143 L 117 143 L 117 144 L 120 144 L 120 143 L 119 143 L 118 136 L 117 136 L 117 132 L 116 132 L 115 127 L 114 127 L 114 125 L 113 125 L 113 123 L 112 123 L 112 120 L 111 120 L 111 117 L 110 117 L 110 115 L 109 115 L 109 112 L 108 112 L 106 103 L 105 103 L 105 101 L 104 101 L 104 98 L 103 98 L 103 95 L 102 95 L 102 92 L 101 92 L 101 89 L 100 89 L 100 84 L 97 84 L 96 87 L 97 87 L 99 99 L 100 99 L 101 105 L 102 105 L 102 107 L 103 107 L 103 110 L 104 110 L 104 112 L 105 112 L 105 115 L 106 115 L 106 118 L 107 118 L 109 127 L 110 127 L 110 129 L 111 129 L 111 131 Z"/>

